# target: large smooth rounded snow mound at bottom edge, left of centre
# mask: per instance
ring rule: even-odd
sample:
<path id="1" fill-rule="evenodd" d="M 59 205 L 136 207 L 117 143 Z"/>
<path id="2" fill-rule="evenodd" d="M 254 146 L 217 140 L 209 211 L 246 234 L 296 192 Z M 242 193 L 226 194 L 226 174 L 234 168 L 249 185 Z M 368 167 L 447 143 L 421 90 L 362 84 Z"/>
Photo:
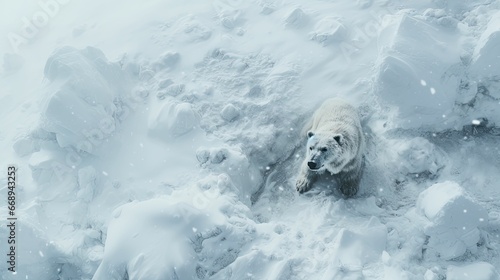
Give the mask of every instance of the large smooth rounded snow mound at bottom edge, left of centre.
<path id="1" fill-rule="evenodd" d="M 212 230 L 217 219 L 160 199 L 124 205 L 113 216 L 95 280 L 124 279 L 126 274 L 129 279 L 189 279 L 196 270 L 189 236 Z M 156 263 L 162 269 L 155 269 Z"/>

